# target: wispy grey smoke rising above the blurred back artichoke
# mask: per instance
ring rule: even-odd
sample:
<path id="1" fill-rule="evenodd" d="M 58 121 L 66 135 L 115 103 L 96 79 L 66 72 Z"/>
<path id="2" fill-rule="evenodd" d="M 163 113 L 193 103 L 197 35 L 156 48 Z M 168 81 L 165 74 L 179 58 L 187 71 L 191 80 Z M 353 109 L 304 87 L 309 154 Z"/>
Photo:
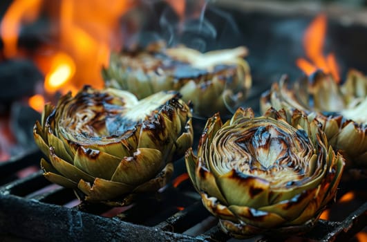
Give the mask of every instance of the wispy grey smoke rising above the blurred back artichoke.
<path id="1" fill-rule="evenodd" d="M 129 48 L 164 40 L 169 47 L 183 44 L 201 52 L 241 45 L 243 38 L 236 22 L 213 1 L 180 1 L 184 1 L 184 8 L 173 6 L 178 0 L 143 1 L 122 19 L 124 45 Z"/>

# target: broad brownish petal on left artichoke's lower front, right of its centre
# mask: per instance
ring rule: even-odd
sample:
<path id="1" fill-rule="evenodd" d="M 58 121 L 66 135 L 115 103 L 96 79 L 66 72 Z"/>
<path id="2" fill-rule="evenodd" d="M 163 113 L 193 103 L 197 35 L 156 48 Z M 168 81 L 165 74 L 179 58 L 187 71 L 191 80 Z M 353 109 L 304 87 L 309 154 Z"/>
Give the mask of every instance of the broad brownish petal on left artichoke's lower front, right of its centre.
<path id="1" fill-rule="evenodd" d="M 158 149 L 139 148 L 133 157 L 125 157 L 117 166 L 111 180 L 129 185 L 139 185 L 155 177 L 164 161 Z"/>

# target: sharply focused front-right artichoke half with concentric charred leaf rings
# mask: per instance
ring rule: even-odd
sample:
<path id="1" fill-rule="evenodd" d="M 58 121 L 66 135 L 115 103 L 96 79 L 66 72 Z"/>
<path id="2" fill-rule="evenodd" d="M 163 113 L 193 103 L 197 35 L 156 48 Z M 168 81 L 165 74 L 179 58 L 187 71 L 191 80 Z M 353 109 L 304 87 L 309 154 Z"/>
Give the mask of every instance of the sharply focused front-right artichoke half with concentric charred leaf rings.
<path id="1" fill-rule="evenodd" d="M 275 109 L 258 118 L 238 109 L 225 124 L 217 113 L 185 160 L 204 206 L 237 238 L 307 231 L 344 169 L 316 120 Z"/>

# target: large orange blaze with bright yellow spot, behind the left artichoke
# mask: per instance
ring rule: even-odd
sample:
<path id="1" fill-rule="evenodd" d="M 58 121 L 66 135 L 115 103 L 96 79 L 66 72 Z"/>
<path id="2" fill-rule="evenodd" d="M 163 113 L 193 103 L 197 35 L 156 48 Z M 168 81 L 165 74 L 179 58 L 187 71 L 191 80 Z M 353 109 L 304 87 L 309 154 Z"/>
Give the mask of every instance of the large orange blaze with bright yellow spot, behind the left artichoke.
<path id="1" fill-rule="evenodd" d="M 21 57 L 18 40 L 24 23 L 46 16 L 51 39 L 38 47 L 35 64 L 44 73 L 45 97 L 91 84 L 102 88 L 100 71 L 108 66 L 111 50 L 122 47 L 120 17 L 138 1 L 15 0 L 1 21 L 3 56 Z M 45 20 L 43 20 L 45 21 Z M 45 51 L 46 50 L 46 51 Z M 30 98 L 34 108 L 39 96 Z M 46 100 L 48 101 L 48 100 Z M 37 107 L 38 109 L 38 107 Z"/>

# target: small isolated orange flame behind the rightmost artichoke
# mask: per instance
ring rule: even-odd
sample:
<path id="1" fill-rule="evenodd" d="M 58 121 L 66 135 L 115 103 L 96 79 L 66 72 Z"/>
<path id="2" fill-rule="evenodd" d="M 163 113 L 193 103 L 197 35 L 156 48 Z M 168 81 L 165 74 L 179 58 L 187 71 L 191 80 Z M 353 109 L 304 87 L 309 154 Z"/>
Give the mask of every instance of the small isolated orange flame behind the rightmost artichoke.
<path id="1" fill-rule="evenodd" d="M 311 75 L 317 69 L 330 73 L 334 79 L 339 82 L 339 66 L 334 53 L 329 53 L 326 57 L 323 55 L 323 43 L 326 38 L 327 19 L 326 15 L 318 15 L 308 26 L 303 35 L 303 48 L 305 55 L 310 59 L 304 58 L 296 60 L 296 64 L 301 70 Z"/>

